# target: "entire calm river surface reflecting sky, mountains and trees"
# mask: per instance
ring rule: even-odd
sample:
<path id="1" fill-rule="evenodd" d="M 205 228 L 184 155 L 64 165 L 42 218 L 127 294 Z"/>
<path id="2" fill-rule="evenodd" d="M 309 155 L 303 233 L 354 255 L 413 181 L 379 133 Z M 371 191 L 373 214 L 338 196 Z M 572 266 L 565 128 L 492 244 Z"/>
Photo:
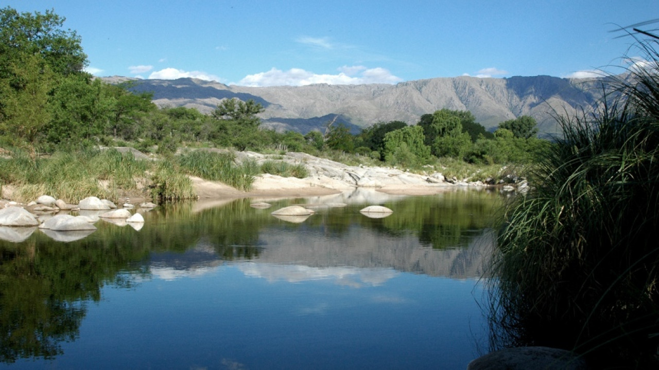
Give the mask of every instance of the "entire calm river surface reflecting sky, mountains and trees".
<path id="1" fill-rule="evenodd" d="M 347 205 L 270 215 L 293 203 Z M 465 369 L 487 347 L 478 279 L 498 203 L 358 191 L 167 205 L 71 242 L 0 230 L 14 240 L 0 242 L 1 366 Z M 359 213 L 372 204 L 394 213 Z"/>

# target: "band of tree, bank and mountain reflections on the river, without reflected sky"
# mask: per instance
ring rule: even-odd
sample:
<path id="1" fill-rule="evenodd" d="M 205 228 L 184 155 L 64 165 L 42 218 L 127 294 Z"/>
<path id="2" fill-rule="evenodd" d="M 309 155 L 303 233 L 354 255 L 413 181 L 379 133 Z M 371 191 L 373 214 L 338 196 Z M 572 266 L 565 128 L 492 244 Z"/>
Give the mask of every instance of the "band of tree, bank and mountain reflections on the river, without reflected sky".
<path id="1" fill-rule="evenodd" d="M 270 209 L 250 207 L 267 200 Z M 290 279 L 299 271 L 371 269 L 432 277 L 482 276 L 500 198 L 487 192 L 387 196 L 351 192 L 301 199 L 237 199 L 167 204 L 144 214 L 141 230 L 98 221 L 85 238 L 50 238 L 42 230 L 5 230 L 0 241 L 0 361 L 52 359 L 78 340 L 89 302 L 104 286 L 139 290 L 158 275 L 177 278 L 232 261 L 253 261 L 250 274 Z M 316 214 L 291 223 L 270 213 L 312 204 Z M 394 213 L 371 219 L 365 205 Z M 340 207 L 337 205 L 341 205 Z M 26 234 L 26 235 L 24 235 Z M 245 272 L 247 273 L 247 272 Z"/>

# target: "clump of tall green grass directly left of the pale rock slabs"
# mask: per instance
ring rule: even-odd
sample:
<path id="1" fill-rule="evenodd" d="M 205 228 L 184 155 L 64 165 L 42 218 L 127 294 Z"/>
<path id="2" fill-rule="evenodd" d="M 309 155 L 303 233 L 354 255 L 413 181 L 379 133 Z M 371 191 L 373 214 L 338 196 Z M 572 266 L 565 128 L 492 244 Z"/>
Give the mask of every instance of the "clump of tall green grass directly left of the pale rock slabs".
<path id="1" fill-rule="evenodd" d="M 234 188 L 248 191 L 254 184 L 254 175 L 258 173 L 258 166 L 253 161 L 237 165 L 234 159 L 233 153 L 195 150 L 180 155 L 177 163 L 194 176 L 221 181 Z"/>

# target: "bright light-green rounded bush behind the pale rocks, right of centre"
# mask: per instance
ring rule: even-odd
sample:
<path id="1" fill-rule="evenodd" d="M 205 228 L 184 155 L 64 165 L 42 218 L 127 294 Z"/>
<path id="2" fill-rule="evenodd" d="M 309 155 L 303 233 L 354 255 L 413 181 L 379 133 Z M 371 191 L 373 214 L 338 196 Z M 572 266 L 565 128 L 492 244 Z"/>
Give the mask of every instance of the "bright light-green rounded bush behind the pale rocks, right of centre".
<path id="1" fill-rule="evenodd" d="M 430 148 L 424 144 L 423 128 L 407 126 L 387 132 L 384 136 L 384 157 L 387 163 L 405 167 L 427 163 Z"/>

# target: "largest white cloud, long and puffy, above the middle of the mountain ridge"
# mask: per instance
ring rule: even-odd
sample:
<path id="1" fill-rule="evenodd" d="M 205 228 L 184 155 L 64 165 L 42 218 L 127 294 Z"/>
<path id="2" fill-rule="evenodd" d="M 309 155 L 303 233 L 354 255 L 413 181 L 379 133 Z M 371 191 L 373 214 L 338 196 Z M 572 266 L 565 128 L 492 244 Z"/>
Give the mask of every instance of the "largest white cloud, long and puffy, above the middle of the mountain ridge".
<path id="1" fill-rule="evenodd" d="M 238 82 L 240 86 L 304 86 L 310 84 L 358 85 L 395 84 L 402 79 L 385 68 L 343 66 L 338 74 L 315 74 L 301 68 L 283 71 L 272 68 L 268 72 L 249 74 Z"/>

